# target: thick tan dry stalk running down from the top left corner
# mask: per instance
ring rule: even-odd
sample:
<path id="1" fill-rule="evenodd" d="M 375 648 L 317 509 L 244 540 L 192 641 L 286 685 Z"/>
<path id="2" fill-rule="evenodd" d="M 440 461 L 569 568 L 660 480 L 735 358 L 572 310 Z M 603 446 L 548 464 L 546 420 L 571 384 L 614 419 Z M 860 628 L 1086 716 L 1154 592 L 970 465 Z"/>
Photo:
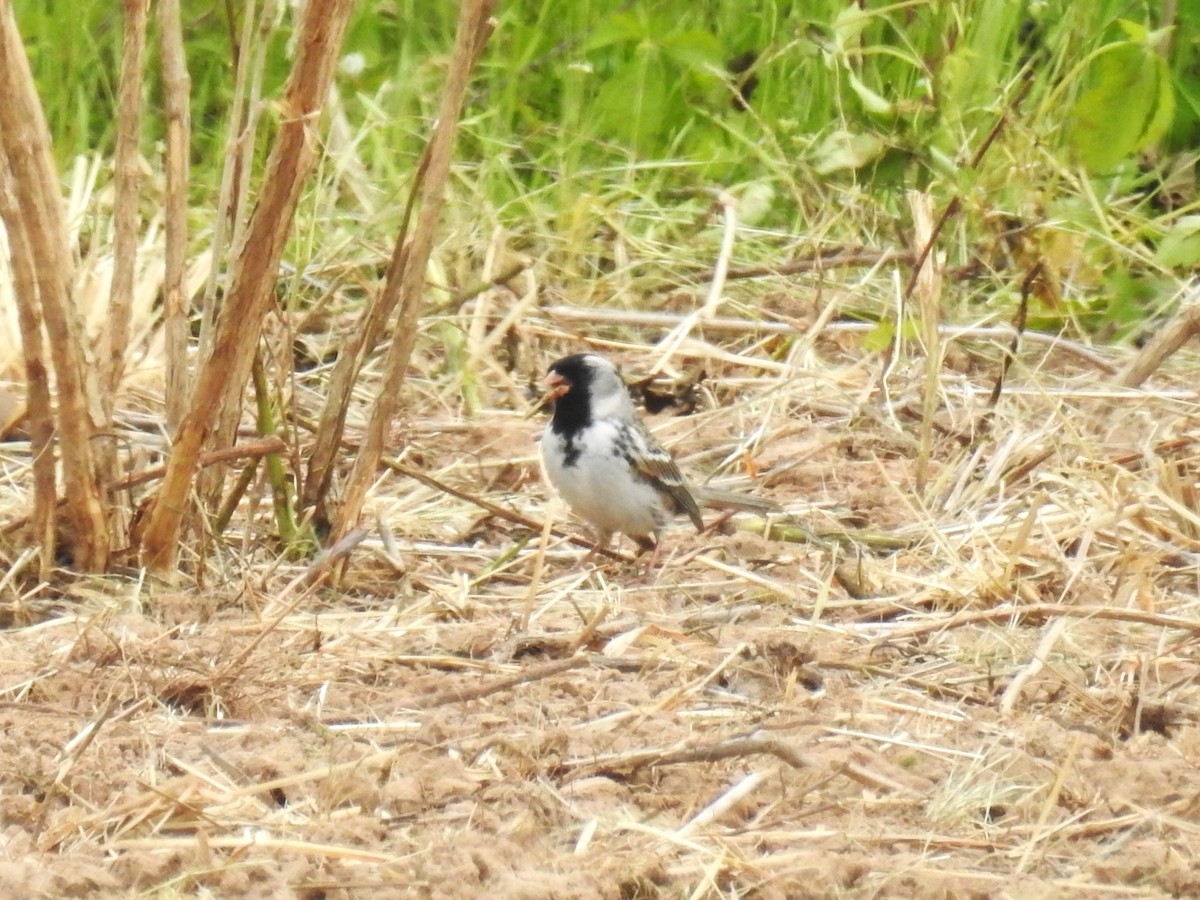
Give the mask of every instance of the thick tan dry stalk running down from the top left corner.
<path id="1" fill-rule="evenodd" d="M 13 200 L 11 208 L 5 204 L 5 226 L 10 233 L 23 230 L 24 239 L 13 245 L 13 251 L 14 256 L 19 250 L 28 257 L 14 263 L 14 269 L 34 280 L 32 290 L 18 293 L 17 302 L 31 307 L 23 313 L 23 322 L 41 319 L 44 324 L 58 386 L 58 434 L 70 514 L 70 527 L 64 530 L 73 564 L 86 571 L 103 571 L 108 564 L 109 526 L 92 438 L 103 427 L 104 415 L 71 294 L 74 265 L 50 133 L 11 4 L 0 5 L 0 149 Z M 10 215 L 13 211 L 16 217 Z M 43 424 L 54 414 L 48 407 L 34 410 L 34 404 L 48 400 L 46 394 L 30 392 L 31 415 Z M 38 493 L 37 499 L 44 503 L 47 498 Z M 53 516 L 53 511 L 40 509 L 35 521 L 44 527 L 47 517 Z"/>

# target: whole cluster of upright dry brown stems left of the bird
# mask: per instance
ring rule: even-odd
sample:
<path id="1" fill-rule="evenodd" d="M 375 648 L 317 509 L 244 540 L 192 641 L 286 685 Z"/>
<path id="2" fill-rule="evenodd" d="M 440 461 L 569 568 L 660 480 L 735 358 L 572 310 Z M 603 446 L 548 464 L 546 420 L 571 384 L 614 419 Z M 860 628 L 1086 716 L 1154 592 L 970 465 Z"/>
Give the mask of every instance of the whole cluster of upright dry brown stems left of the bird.
<path id="1" fill-rule="evenodd" d="M 350 389 L 367 354 L 380 340 L 394 313 L 388 377 L 371 414 L 366 449 L 359 456 L 336 529 L 344 534 L 354 526 L 373 472 L 379 463 L 383 436 L 395 416 L 404 370 L 412 354 L 425 268 L 432 252 L 450 157 L 467 84 L 490 34 L 488 16 L 494 0 L 462 4 L 445 96 L 431 144 L 425 154 L 409 212 L 396 241 L 383 290 L 367 305 L 362 328 L 343 365 L 335 374 L 322 428 L 305 480 L 302 503 L 320 521 L 330 521 L 325 494 L 340 448 Z M 284 244 L 292 229 L 305 180 L 320 155 L 319 122 L 331 96 L 334 71 L 353 0 L 310 0 L 301 13 L 292 73 L 280 108 L 277 133 L 248 217 L 241 209 L 250 196 L 251 163 L 259 112 L 264 53 L 275 5 L 245 13 L 242 42 L 236 59 L 236 102 L 232 112 L 229 164 L 217 216 L 217 246 L 227 230 L 233 253 L 229 283 L 216 302 L 218 266 L 214 265 L 204 298 L 200 330 L 200 364 L 193 378 L 187 364 L 186 197 L 188 184 L 188 74 L 178 0 L 158 6 L 162 82 L 166 118 L 166 274 L 163 280 L 166 335 L 167 431 L 170 455 L 157 494 L 144 508 L 131 535 L 139 545 L 140 560 L 160 574 L 174 571 L 178 547 L 196 492 L 202 460 L 228 450 L 241 421 L 242 400 L 251 370 L 256 366 L 265 317 L 272 308 Z M 0 109 L 0 214 L 12 247 L 13 270 L 20 299 L 20 325 L 29 380 L 29 431 L 35 448 L 35 514 L 30 518 L 34 540 L 41 546 L 43 577 L 54 562 L 59 534 L 70 535 L 77 566 L 103 570 L 124 524 L 108 502 L 108 487 L 128 484 L 115 468 L 112 442 L 97 436 L 114 431 L 113 412 L 121 389 L 130 344 L 130 322 L 137 270 L 139 134 L 142 126 L 143 70 L 146 55 L 148 0 L 124 0 L 125 41 L 120 76 L 120 104 L 115 161 L 114 266 L 107 329 L 98 360 L 89 358 L 76 311 L 72 250 L 64 220 L 64 203 L 50 156 L 50 137 L 41 114 L 36 90 L 17 24 L 5 6 L 2 72 L 0 89 L 6 102 Z M 256 32 L 257 29 L 257 32 Z M 256 34 L 262 37 L 256 42 Z M 227 220 L 232 228 L 227 228 Z M 398 313 L 397 313 L 398 308 Z M 53 373 L 50 367 L 53 365 Z M 260 373 L 262 374 L 262 373 Z M 265 377 L 257 379 L 260 422 Z M 58 499 L 55 450 L 64 463 L 64 509 Z M 268 469 L 286 481 L 278 461 Z M 209 480 L 220 488 L 221 478 Z M 202 494 L 215 497 L 210 491 Z M 277 494 L 277 498 L 283 492 Z M 227 499 L 227 504 L 228 504 Z M 277 500 L 278 502 L 278 500 Z M 287 511 L 288 516 L 292 511 Z M 62 526 L 70 526 L 64 528 Z M 199 526 L 197 526 L 199 527 Z"/>

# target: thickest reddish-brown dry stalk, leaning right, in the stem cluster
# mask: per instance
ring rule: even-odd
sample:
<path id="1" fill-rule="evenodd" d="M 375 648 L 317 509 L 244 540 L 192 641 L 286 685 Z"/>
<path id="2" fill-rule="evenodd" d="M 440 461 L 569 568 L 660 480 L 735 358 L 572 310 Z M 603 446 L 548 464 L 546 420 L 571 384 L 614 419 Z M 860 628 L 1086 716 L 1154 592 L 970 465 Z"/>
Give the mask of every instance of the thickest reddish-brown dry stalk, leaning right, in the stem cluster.
<path id="1" fill-rule="evenodd" d="M 166 574 L 174 569 L 200 446 L 222 407 L 240 403 L 250 378 L 300 188 L 317 160 L 314 128 L 329 95 L 353 6 L 353 0 L 310 0 L 305 6 L 282 101 L 283 116 L 263 188 L 234 260 L 233 283 L 217 317 L 211 352 L 200 366 L 191 407 L 180 425 L 167 476 L 146 524 L 142 559 L 152 571 Z"/>

